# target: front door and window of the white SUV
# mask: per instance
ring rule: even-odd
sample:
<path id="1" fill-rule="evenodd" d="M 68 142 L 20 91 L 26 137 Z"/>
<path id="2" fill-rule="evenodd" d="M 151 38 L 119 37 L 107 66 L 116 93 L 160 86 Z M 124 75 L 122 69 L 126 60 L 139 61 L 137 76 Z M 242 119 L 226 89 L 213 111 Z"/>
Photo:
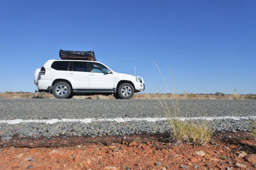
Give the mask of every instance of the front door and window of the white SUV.
<path id="1" fill-rule="evenodd" d="M 89 89 L 113 89 L 114 77 L 112 73 L 107 72 L 107 69 L 98 62 L 89 62 Z"/>

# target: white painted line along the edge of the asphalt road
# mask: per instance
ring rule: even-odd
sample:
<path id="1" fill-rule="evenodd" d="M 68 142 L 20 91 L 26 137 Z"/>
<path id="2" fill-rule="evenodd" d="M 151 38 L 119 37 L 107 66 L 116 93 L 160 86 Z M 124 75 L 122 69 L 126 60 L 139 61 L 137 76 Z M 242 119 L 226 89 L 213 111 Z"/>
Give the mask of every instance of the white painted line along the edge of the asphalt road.
<path id="1" fill-rule="evenodd" d="M 175 119 L 175 118 L 174 118 Z M 176 118 L 177 119 L 177 118 Z M 213 121 L 213 120 L 224 120 L 224 119 L 232 119 L 232 120 L 249 120 L 249 119 L 256 119 L 256 116 L 216 116 L 216 117 L 180 117 L 181 121 L 186 120 L 207 120 L 207 121 Z M 90 122 L 131 122 L 131 121 L 147 121 L 147 122 L 156 122 L 156 121 L 166 121 L 166 117 L 160 117 L 160 118 L 151 118 L 151 117 L 145 117 L 145 118 L 114 118 L 114 119 L 42 119 L 42 120 L 36 120 L 36 119 L 13 119 L 13 120 L 0 120 L 0 124 L 7 123 L 7 124 L 18 124 L 18 123 L 45 123 L 45 124 L 53 124 L 57 122 L 80 122 L 80 123 L 90 123 Z"/>

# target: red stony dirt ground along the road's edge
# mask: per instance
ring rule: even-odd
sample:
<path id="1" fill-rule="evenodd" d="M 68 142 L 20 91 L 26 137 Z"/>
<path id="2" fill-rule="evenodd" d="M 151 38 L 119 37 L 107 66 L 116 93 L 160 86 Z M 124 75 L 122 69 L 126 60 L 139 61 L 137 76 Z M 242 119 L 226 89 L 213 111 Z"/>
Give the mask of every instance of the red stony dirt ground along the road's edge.
<path id="1" fill-rule="evenodd" d="M 14 137 L 0 143 L 0 170 L 256 169 L 256 142 L 249 133 L 215 133 L 204 147 L 173 146 L 163 134 L 125 137 Z"/>

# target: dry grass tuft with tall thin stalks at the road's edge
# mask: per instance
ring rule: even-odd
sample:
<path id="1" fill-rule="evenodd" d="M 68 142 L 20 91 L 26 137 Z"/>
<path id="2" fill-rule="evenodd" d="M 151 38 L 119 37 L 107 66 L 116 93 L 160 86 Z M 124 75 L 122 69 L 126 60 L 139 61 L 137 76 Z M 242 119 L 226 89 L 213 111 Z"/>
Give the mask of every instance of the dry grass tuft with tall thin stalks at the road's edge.
<path id="1" fill-rule="evenodd" d="M 155 62 L 154 64 L 157 66 Z M 168 93 L 170 94 L 168 85 L 166 84 L 163 74 L 161 73 L 158 66 L 157 66 L 157 69 L 160 72 L 165 82 Z M 172 109 L 169 108 L 169 105 L 167 103 L 169 101 L 164 99 L 163 94 L 160 93 L 159 88 L 157 89 L 160 93 L 160 97 L 156 95 L 161 105 L 161 108 L 163 110 L 163 113 L 166 115 L 167 120 L 169 122 L 169 126 L 171 128 L 169 132 L 170 134 L 169 140 L 174 144 L 179 144 L 183 142 L 186 144 L 204 146 L 205 144 L 207 144 L 207 142 L 211 140 L 211 137 L 212 137 L 211 124 L 206 120 L 183 121 L 181 119 L 180 105 L 179 105 L 179 100 L 177 96 L 176 86 L 175 86 L 175 82 L 172 77 L 172 72 L 170 71 L 170 68 L 169 68 L 169 72 L 171 74 L 172 83 L 175 91 L 175 94 L 173 95 L 174 98 L 172 98 L 172 95 L 169 95 L 169 98 L 171 99 L 170 102 L 172 103 Z"/>

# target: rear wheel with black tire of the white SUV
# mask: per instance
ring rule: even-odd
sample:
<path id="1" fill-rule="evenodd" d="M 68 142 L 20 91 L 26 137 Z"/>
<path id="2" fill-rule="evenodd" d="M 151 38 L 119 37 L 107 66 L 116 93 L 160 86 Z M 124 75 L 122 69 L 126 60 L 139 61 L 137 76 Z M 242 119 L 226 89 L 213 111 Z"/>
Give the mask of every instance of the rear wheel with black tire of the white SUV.
<path id="1" fill-rule="evenodd" d="M 63 91 L 58 90 L 58 89 L 60 89 L 60 87 L 62 87 Z M 55 96 L 58 99 L 68 99 L 68 97 L 71 94 L 70 85 L 66 82 L 57 82 L 52 87 L 52 94 L 53 94 L 53 96 Z"/>

